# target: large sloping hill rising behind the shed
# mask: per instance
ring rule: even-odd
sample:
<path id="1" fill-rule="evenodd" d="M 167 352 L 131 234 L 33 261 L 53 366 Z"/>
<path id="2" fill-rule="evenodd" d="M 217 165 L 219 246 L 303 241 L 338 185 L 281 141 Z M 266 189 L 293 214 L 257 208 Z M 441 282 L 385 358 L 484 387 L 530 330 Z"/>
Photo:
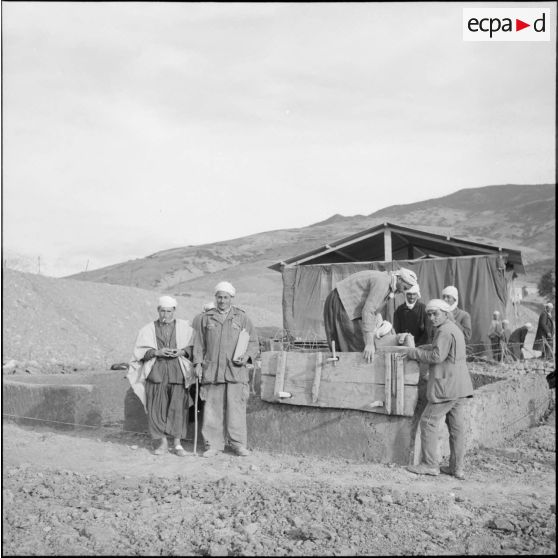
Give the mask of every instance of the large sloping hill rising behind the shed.
<path id="1" fill-rule="evenodd" d="M 554 184 L 470 188 L 370 215 L 337 214 L 299 229 L 164 250 L 71 278 L 200 296 L 207 296 L 217 281 L 226 278 L 254 305 L 275 312 L 280 309 L 282 283 L 279 273 L 267 269 L 269 265 L 384 221 L 519 249 L 527 269 L 542 260 L 553 266 L 555 209 Z"/>

